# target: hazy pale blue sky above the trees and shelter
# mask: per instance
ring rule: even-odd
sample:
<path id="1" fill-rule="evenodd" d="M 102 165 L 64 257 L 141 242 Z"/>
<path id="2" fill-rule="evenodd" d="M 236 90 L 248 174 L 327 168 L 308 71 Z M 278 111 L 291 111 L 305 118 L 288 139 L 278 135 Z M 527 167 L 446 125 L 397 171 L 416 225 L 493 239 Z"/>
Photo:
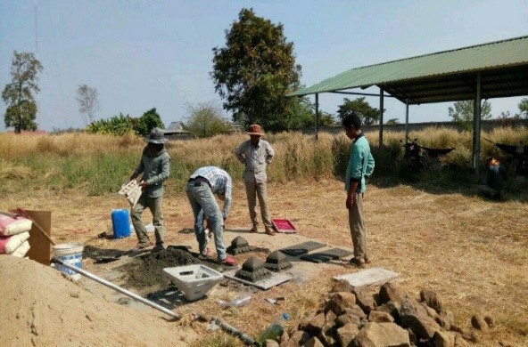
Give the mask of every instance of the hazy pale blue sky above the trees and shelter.
<path id="1" fill-rule="evenodd" d="M 185 122 L 188 105 L 221 105 L 212 49 L 225 46 L 243 8 L 283 24 L 306 86 L 348 69 L 528 35 L 525 0 L 0 0 L 0 87 L 11 82 L 13 52 L 33 52 L 44 67 L 39 129 L 85 126 L 79 85 L 99 93 L 95 119 L 156 108 L 166 126 Z M 319 94 L 319 109 L 336 114 L 344 97 L 357 96 Z M 492 116 L 518 113 L 521 99 L 492 99 Z M 367 101 L 379 108 L 379 97 Z M 409 106 L 409 122 L 449 121 L 452 104 Z M 0 131 L 5 108 L 0 101 Z M 384 109 L 384 119 L 405 123 L 400 101 L 385 98 Z"/>

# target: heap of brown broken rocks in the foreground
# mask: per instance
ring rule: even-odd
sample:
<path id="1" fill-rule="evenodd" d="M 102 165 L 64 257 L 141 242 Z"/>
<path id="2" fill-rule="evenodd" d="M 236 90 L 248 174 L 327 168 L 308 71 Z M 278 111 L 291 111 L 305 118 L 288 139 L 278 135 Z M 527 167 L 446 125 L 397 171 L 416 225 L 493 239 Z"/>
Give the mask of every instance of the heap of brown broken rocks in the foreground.
<path id="1" fill-rule="evenodd" d="M 473 320 L 480 329 L 493 324 L 491 317 Z M 281 347 L 458 347 L 469 345 L 467 341 L 475 342 L 473 332 L 456 325 L 453 313 L 433 291 L 422 290 L 416 300 L 392 282 L 373 293 L 341 280 L 321 308 L 285 331 L 279 343 Z M 268 341 L 269 346 L 274 344 Z"/>

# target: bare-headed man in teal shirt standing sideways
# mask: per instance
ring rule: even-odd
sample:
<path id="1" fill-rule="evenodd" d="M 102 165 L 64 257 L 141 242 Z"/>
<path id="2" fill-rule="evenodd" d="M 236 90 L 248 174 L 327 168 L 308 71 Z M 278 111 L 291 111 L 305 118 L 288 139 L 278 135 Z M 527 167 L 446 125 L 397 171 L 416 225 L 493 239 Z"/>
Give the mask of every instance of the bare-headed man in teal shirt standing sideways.
<path id="1" fill-rule="evenodd" d="M 367 255 L 367 229 L 363 217 L 363 194 L 367 190 L 365 178 L 374 171 L 374 157 L 370 153 L 367 138 L 361 132 L 361 117 L 351 111 L 342 118 L 342 126 L 352 140 L 351 158 L 347 165 L 344 188 L 347 191 L 346 208 L 349 210 L 354 257 L 351 264 L 362 266 L 369 262 Z"/>

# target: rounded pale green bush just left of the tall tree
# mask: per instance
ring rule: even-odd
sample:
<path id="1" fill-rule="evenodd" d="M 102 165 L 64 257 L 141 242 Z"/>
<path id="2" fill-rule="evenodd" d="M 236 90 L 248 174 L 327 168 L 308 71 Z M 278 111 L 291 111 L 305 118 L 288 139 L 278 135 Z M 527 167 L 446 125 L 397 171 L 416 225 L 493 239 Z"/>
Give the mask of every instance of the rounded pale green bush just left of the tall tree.
<path id="1" fill-rule="evenodd" d="M 220 133 L 229 133 L 231 126 L 222 117 L 222 109 L 213 102 L 197 105 L 186 104 L 186 130 L 195 137 L 210 137 Z"/>

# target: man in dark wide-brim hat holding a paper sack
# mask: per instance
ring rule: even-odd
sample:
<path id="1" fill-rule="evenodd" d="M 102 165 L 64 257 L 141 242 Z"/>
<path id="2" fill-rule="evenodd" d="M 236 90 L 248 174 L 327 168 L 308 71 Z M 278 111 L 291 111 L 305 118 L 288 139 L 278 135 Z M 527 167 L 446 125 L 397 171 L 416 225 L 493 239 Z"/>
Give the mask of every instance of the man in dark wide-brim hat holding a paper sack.
<path id="1" fill-rule="evenodd" d="M 147 145 L 143 149 L 141 160 L 134 173 L 130 176 L 130 181 L 132 181 L 136 180 L 140 173 L 143 173 L 143 177 L 138 183 L 138 186 L 142 189 L 141 196 L 137 200 L 136 205 L 132 206 L 130 210 L 130 217 L 137 236 L 136 250 L 150 246 L 150 240 L 142 218 L 144 209 L 147 207 L 153 214 L 154 237 L 156 238 L 153 251 L 158 252 L 165 248 L 163 246 L 165 225 L 163 224 L 161 203 L 163 182 L 169 178 L 170 172 L 170 157 L 167 149 L 165 149 L 165 141 L 167 139 L 163 131 L 160 128 L 153 128 L 148 137 Z"/>

